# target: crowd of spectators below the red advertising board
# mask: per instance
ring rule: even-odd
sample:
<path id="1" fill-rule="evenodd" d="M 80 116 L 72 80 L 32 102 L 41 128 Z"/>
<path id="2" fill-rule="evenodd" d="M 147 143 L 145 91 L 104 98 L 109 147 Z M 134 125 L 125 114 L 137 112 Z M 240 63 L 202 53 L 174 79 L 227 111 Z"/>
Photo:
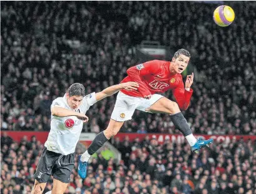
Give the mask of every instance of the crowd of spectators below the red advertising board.
<path id="1" fill-rule="evenodd" d="M 148 136 L 131 142 L 127 136 L 116 139 L 114 145 L 122 155 L 120 164 L 98 155 L 91 160 L 84 180 L 77 174 L 76 157 L 65 193 L 256 193 L 255 141 L 216 142 L 200 155 L 192 154 L 187 143 L 167 139 L 160 144 Z M 36 137 L 28 140 L 24 136 L 20 143 L 7 135 L 1 137 L 1 193 L 31 191 L 43 147 Z M 45 192 L 52 183 L 48 181 Z"/>

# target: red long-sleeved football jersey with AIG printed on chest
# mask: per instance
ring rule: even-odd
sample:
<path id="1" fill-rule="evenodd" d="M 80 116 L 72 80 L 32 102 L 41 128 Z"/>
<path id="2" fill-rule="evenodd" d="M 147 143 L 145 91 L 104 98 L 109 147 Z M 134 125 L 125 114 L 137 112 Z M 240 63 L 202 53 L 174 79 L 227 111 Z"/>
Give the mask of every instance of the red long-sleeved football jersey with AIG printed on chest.
<path id="1" fill-rule="evenodd" d="M 133 91 L 121 89 L 122 93 L 144 98 L 150 94 L 163 93 L 172 89 L 178 106 L 182 110 L 187 110 L 193 89 L 185 90 L 181 74 L 171 75 L 170 61 L 153 60 L 138 64 L 129 68 L 127 74 L 128 76 L 121 83 L 136 81 L 140 87 Z"/>

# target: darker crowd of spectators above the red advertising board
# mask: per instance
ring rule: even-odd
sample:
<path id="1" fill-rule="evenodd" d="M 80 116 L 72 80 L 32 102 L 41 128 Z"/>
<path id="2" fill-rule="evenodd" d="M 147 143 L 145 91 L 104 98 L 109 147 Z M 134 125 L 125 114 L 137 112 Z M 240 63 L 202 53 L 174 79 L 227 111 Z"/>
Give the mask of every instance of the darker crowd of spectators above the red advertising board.
<path id="1" fill-rule="evenodd" d="M 86 93 L 119 83 L 126 69 L 136 64 L 131 47 L 148 39 L 192 53 L 191 63 L 200 73 L 195 74 L 185 117 L 194 133 L 255 135 L 256 22 L 248 19 L 255 16 L 255 4 L 232 5 L 240 15 L 232 28 L 219 28 L 207 18 L 214 6 L 140 1 L 4 3 L 2 130 L 49 131 L 54 98 L 63 96 L 74 82 L 83 83 Z M 79 49 L 71 48 L 68 39 L 79 40 Z M 165 95 L 173 99 L 171 93 Z M 84 131 L 104 130 L 114 103 L 111 96 L 93 106 L 87 113 L 92 121 Z M 135 114 L 140 118 L 126 122 L 123 131 L 178 133 L 168 115 Z"/>

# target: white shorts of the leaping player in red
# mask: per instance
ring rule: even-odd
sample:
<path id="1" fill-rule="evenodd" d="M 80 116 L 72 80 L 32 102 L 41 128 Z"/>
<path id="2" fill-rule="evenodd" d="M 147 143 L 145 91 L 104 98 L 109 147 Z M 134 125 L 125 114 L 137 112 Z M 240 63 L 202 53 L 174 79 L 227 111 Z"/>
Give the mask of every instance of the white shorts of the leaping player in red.
<path id="1" fill-rule="evenodd" d="M 163 96 L 160 94 L 153 94 L 150 99 L 146 99 L 128 96 L 120 91 L 116 97 L 116 103 L 111 115 L 111 119 L 115 121 L 131 120 L 131 116 L 133 116 L 135 109 L 148 112 L 145 111 L 146 108 L 153 105 L 160 98 L 163 98 Z"/>

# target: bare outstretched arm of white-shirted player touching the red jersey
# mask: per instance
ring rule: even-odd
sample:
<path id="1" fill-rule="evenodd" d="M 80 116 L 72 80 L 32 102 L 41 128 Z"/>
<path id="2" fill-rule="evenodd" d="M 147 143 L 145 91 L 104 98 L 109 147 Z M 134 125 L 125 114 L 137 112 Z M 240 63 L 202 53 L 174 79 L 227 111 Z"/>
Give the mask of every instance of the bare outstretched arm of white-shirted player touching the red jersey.
<path id="1" fill-rule="evenodd" d="M 102 100 L 103 98 L 106 98 L 107 96 L 111 96 L 117 93 L 118 91 L 120 91 L 120 89 L 133 90 L 133 89 L 137 89 L 138 87 L 139 87 L 139 84 L 133 81 L 128 81 L 126 83 L 113 85 L 106 89 L 103 89 L 103 91 L 101 92 L 96 93 L 96 100 L 99 101 L 99 100 Z"/>

